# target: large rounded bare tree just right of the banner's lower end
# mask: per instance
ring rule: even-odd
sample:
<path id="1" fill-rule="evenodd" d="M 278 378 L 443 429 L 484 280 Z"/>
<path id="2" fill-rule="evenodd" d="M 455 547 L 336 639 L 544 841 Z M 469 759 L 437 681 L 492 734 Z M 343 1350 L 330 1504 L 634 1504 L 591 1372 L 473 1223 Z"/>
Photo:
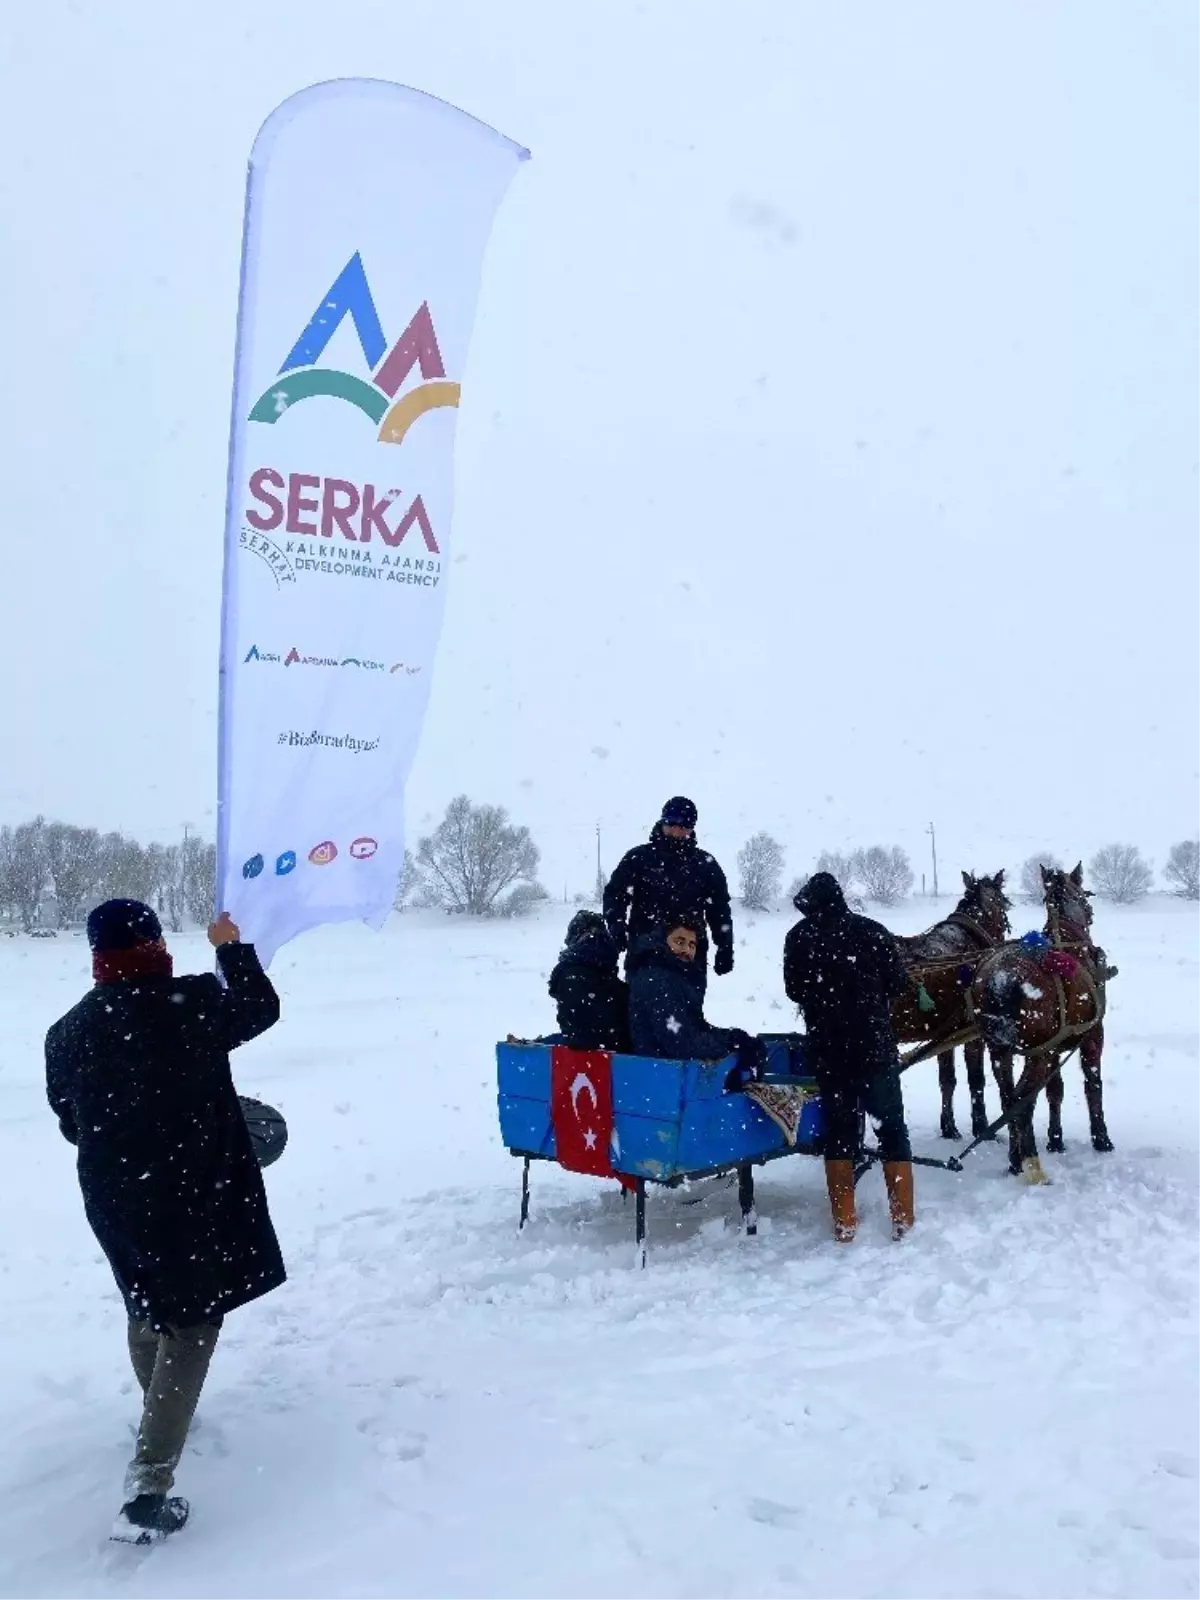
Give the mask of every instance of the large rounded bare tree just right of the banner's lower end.
<path id="1" fill-rule="evenodd" d="M 418 843 L 418 904 L 488 917 L 506 890 L 536 882 L 539 859 L 528 827 L 509 822 L 504 806 L 459 795 Z"/>

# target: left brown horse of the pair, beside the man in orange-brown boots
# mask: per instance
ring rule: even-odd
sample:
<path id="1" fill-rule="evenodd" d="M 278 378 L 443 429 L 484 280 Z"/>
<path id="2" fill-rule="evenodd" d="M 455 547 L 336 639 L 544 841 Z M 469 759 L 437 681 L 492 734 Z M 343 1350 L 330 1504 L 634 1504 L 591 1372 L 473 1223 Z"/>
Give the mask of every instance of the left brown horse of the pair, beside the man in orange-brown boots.
<path id="1" fill-rule="evenodd" d="M 987 950 L 1008 936 L 1011 901 L 1005 894 L 1003 870 L 990 878 L 963 872 L 963 898 L 944 922 L 915 938 L 896 941 L 914 979 L 912 989 L 893 1006 L 896 1037 L 904 1043 L 926 1043 L 970 1029 L 966 992 L 974 968 Z M 982 1038 L 965 1043 L 963 1056 L 971 1094 L 971 1134 L 979 1139 L 987 1136 Z M 952 1048 L 938 1053 L 938 1082 L 942 1091 L 942 1138 L 958 1139 Z"/>

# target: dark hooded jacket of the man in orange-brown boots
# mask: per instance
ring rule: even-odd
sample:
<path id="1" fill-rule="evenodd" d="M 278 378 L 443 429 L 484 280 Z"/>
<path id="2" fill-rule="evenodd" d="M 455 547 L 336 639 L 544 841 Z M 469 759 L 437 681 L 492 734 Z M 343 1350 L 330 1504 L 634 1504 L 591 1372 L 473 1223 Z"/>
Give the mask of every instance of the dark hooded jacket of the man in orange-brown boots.
<path id="1" fill-rule="evenodd" d="M 840 893 L 784 941 L 784 989 L 800 1006 L 821 1067 L 866 1080 L 896 1066 L 891 1003 L 907 987 L 896 941 Z"/>

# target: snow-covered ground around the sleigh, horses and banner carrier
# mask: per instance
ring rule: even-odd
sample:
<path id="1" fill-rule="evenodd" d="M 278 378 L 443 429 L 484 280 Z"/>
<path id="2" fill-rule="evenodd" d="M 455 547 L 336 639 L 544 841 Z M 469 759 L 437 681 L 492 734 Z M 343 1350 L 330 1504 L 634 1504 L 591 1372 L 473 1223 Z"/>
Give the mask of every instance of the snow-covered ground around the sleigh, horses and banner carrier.
<path id="1" fill-rule="evenodd" d="M 235 1067 L 291 1126 L 269 1174 L 291 1282 L 229 1320 L 181 1469 L 192 1526 L 149 1555 L 106 1546 L 138 1408 L 42 1094 L 85 950 L 0 941 L 21 997 L 0 1011 L 0 1594 L 1200 1594 L 1200 912 L 1101 907 L 1115 1155 L 1086 1142 L 1072 1066 L 1053 1187 L 1008 1178 L 1002 1146 L 918 1173 L 893 1246 L 872 1174 L 837 1250 L 795 1158 L 760 1179 L 757 1240 L 730 1192 L 654 1195 L 645 1272 L 600 1182 L 536 1170 L 517 1234 L 491 1051 L 550 1026 L 563 922 L 406 915 L 280 957 L 283 1022 Z M 742 915 L 717 1022 L 786 1024 L 786 926 Z M 944 1154 L 936 1070 L 906 1082 L 915 1147 Z"/>

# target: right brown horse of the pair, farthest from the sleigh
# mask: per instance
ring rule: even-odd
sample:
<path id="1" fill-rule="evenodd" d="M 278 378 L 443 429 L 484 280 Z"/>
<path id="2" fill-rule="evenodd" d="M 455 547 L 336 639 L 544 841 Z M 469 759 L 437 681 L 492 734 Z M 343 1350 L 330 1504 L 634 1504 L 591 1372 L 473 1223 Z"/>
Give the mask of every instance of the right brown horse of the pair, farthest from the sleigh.
<path id="1" fill-rule="evenodd" d="M 1005 944 L 979 963 L 971 984 L 971 1006 L 992 1051 L 992 1069 L 1005 1110 L 1030 1096 L 1010 1123 L 1008 1160 L 1029 1182 L 1046 1182 L 1034 1136 L 1037 1091 L 1050 1102 L 1050 1149 L 1062 1150 L 1064 1056 L 1080 1051 L 1083 1090 L 1096 1150 L 1110 1150 L 1104 1125 L 1101 1056 L 1104 1051 L 1104 986 L 1115 976 L 1104 952 L 1091 942 L 1091 896 L 1083 888 L 1083 864 L 1074 872 L 1042 869 L 1046 939 L 1042 949 Z M 1014 1082 L 1013 1058 L 1024 1056 Z"/>

